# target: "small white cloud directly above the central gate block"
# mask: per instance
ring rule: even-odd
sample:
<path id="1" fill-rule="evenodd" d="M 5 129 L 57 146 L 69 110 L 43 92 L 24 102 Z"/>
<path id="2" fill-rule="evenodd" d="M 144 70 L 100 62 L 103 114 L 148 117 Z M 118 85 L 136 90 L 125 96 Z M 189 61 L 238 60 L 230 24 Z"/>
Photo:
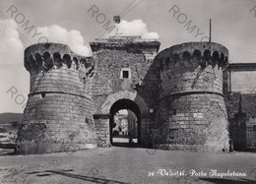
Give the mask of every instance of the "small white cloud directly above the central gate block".
<path id="1" fill-rule="evenodd" d="M 145 39 L 159 39 L 158 32 L 150 32 L 147 25 L 142 20 L 133 20 L 131 22 L 122 20 L 120 24 L 116 25 L 119 35 L 141 35 Z M 113 31 L 115 33 L 115 31 Z M 113 35 L 111 32 L 111 35 Z"/>

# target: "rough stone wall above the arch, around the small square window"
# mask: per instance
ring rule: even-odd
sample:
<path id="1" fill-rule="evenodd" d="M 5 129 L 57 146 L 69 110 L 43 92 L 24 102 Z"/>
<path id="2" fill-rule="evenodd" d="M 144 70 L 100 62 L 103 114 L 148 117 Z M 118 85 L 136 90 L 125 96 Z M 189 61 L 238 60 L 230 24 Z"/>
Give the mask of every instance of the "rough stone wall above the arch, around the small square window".
<path id="1" fill-rule="evenodd" d="M 158 88 L 153 88 L 151 81 L 155 80 L 155 76 L 153 72 L 149 76 L 149 72 L 160 43 L 130 39 L 128 36 L 91 42 L 96 62 L 96 75 L 91 81 L 96 113 L 101 112 L 106 97 L 114 92 L 137 92 L 147 104 L 153 104 L 156 100 L 152 96 Z M 129 70 L 129 78 L 121 77 L 122 69 Z"/>

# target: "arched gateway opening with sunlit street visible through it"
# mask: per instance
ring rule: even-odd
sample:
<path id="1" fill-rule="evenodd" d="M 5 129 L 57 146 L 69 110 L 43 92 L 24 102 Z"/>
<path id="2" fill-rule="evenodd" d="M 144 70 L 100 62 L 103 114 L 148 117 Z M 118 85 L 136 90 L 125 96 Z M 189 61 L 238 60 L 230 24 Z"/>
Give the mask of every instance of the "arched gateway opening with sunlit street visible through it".
<path id="1" fill-rule="evenodd" d="M 134 101 L 116 101 L 110 108 L 109 123 L 112 146 L 138 147 L 141 144 L 141 110 Z"/>

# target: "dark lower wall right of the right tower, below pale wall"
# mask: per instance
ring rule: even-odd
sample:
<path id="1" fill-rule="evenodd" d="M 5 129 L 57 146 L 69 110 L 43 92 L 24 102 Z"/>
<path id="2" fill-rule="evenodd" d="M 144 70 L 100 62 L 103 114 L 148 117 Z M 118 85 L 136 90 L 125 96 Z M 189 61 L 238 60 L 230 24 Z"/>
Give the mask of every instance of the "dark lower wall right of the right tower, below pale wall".
<path id="1" fill-rule="evenodd" d="M 225 95 L 229 134 L 235 151 L 256 149 L 255 100 L 255 93 L 228 92 Z"/>

